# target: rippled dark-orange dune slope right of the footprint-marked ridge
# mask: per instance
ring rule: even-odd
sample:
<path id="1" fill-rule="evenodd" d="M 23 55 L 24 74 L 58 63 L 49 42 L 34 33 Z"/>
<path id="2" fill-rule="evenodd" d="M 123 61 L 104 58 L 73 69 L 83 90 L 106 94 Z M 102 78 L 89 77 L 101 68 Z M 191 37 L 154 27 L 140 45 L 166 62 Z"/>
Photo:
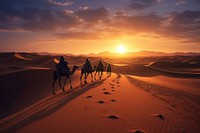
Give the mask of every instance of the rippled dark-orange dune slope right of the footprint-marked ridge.
<path id="1" fill-rule="evenodd" d="M 140 89 L 165 101 L 174 109 L 174 111 L 181 112 L 185 115 L 187 114 L 185 117 L 188 119 L 200 123 L 200 119 L 198 117 L 200 115 L 200 101 L 198 100 L 200 98 L 199 80 L 187 81 L 184 79 L 186 82 L 184 83 L 185 87 L 181 88 L 184 85 L 178 84 L 178 82 L 181 82 L 179 79 L 161 77 L 159 78 L 161 81 L 155 81 L 158 79 L 138 78 L 135 76 L 130 77 L 130 81 Z M 166 80 L 170 82 L 166 82 Z M 173 82 L 176 82 L 176 84 L 171 84 Z M 191 87 L 186 88 L 187 85 L 191 84 L 191 82 L 198 82 L 196 83 L 196 87 L 198 87 L 198 89 Z"/>

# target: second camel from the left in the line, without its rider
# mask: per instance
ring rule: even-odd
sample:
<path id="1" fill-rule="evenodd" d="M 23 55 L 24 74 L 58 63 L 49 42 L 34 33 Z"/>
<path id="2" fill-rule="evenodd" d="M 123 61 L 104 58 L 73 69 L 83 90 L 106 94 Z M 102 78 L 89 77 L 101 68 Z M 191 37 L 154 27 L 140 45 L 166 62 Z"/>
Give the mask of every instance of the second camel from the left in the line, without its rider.
<path id="1" fill-rule="evenodd" d="M 91 82 L 93 82 L 93 75 L 92 73 L 96 70 L 96 66 L 94 67 L 94 69 L 92 70 L 92 67 L 87 66 L 86 64 L 83 65 L 82 69 L 81 69 L 81 76 L 80 76 L 80 83 L 82 85 L 82 76 L 83 74 L 84 76 L 84 83 L 87 84 L 87 76 L 90 74 L 91 75 Z"/>

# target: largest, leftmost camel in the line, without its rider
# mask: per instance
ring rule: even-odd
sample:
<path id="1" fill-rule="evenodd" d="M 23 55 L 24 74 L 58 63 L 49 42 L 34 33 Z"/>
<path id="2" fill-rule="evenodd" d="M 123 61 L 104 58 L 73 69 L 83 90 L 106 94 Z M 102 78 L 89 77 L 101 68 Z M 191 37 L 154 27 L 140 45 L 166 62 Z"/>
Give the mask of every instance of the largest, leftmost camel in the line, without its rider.
<path id="1" fill-rule="evenodd" d="M 66 66 L 66 68 L 63 68 L 63 66 L 61 66 L 61 65 L 56 65 L 56 68 L 55 68 L 54 74 L 53 74 L 54 81 L 52 83 L 53 95 L 55 95 L 54 85 L 55 85 L 57 79 L 59 80 L 59 85 L 62 88 L 63 92 L 65 91 L 64 87 L 65 87 L 67 79 L 69 80 L 69 83 L 70 83 L 70 89 L 72 89 L 70 75 L 73 75 L 75 73 L 75 71 L 78 69 L 78 67 L 74 65 L 72 70 L 70 70 L 70 68 L 68 66 Z M 65 81 L 64 81 L 63 87 L 61 86 L 61 77 L 62 76 L 65 76 Z"/>

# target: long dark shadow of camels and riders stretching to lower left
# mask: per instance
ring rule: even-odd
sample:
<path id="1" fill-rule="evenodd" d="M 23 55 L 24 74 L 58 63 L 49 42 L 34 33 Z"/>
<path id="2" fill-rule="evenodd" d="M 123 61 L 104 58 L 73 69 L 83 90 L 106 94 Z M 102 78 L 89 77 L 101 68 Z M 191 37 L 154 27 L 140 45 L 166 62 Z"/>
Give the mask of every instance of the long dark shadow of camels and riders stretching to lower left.
<path id="1" fill-rule="evenodd" d="M 68 104 L 73 99 L 87 92 L 91 88 L 101 85 L 106 79 L 107 78 L 100 81 L 93 82 L 91 84 L 87 84 L 83 88 L 81 88 L 81 86 L 77 86 L 73 90 L 66 91 L 64 94 L 59 93 L 53 98 L 52 97 L 47 98 L 46 100 L 39 102 L 35 106 L 26 110 L 25 112 L 20 113 L 17 116 L 14 116 L 14 118 L 11 118 L 8 121 L 1 123 L 0 129 L 2 131 L 1 130 L 0 131 L 2 133 L 16 132 L 19 129 L 23 128 L 24 126 L 34 121 L 46 118 L 49 115 L 56 112 L 57 110 L 59 110 L 60 108 L 62 108 L 63 106 L 65 106 L 66 104 Z M 16 124 L 12 124 L 12 123 L 16 123 Z"/>

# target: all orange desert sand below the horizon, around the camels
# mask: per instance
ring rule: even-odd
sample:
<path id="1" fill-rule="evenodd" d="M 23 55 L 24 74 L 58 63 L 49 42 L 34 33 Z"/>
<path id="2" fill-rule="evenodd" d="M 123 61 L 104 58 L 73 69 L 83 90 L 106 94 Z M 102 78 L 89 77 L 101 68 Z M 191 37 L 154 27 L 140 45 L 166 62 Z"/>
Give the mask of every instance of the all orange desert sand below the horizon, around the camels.
<path id="1" fill-rule="evenodd" d="M 127 62 L 102 59 L 105 66 L 111 63 L 112 76 L 107 77 L 104 72 L 103 78 L 94 82 L 89 76 L 88 84 L 80 85 L 85 57 L 66 55 L 70 68 L 79 66 L 71 76 L 73 89 L 69 89 L 67 82 L 66 91 L 62 92 L 56 83 L 56 95 L 52 95 L 52 74 L 58 55 L 3 53 L 0 56 L 2 133 L 200 131 L 198 72 L 152 68 L 149 64 L 160 60 L 157 58 L 127 59 Z M 90 60 L 94 66 L 99 58 Z M 192 57 L 187 61 L 191 60 Z M 189 69 L 196 70 L 196 65 Z"/>

